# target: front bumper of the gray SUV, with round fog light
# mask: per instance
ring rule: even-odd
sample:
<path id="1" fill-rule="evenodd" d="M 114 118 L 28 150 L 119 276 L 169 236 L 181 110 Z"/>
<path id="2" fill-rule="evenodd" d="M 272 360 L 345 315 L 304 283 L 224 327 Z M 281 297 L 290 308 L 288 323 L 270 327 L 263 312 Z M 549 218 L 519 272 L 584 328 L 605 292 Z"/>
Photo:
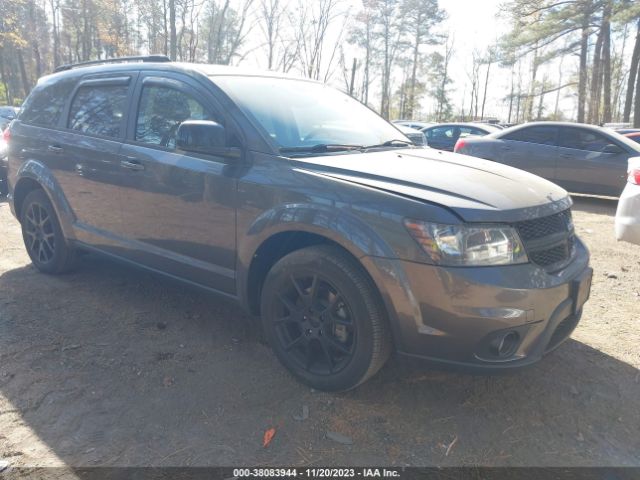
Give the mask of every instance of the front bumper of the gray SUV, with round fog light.
<path id="1" fill-rule="evenodd" d="M 570 264 L 554 273 L 533 264 L 445 268 L 374 259 L 398 354 L 475 371 L 540 360 L 571 335 L 588 298 L 589 253 L 576 243 Z"/>

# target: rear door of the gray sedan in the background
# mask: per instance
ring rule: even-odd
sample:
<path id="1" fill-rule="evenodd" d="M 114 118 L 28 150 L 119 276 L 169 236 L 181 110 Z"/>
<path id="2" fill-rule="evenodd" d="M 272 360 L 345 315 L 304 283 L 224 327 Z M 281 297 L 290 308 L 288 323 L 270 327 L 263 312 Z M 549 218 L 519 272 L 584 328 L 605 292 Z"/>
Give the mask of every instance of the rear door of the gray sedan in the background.
<path id="1" fill-rule="evenodd" d="M 496 158 L 500 163 L 555 180 L 558 127 L 535 125 L 500 136 Z"/>

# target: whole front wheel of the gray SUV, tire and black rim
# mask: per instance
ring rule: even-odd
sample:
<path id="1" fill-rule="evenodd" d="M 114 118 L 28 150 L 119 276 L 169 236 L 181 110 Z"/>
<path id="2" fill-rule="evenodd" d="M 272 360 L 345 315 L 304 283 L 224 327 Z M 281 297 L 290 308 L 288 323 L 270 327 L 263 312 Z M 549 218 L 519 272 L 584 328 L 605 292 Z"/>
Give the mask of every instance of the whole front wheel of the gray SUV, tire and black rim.
<path id="1" fill-rule="evenodd" d="M 355 388 L 391 353 L 375 287 L 336 247 L 303 248 L 280 259 L 265 280 L 261 312 L 265 336 L 280 362 L 318 390 Z"/>

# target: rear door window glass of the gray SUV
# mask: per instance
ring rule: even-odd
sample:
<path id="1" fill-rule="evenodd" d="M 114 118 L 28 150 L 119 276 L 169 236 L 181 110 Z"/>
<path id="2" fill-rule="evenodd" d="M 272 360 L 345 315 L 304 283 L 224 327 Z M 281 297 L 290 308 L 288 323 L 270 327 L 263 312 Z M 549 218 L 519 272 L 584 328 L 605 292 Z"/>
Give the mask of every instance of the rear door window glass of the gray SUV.
<path id="1" fill-rule="evenodd" d="M 105 137 L 120 136 L 128 89 L 126 85 L 80 87 L 71 104 L 69 128 Z"/>

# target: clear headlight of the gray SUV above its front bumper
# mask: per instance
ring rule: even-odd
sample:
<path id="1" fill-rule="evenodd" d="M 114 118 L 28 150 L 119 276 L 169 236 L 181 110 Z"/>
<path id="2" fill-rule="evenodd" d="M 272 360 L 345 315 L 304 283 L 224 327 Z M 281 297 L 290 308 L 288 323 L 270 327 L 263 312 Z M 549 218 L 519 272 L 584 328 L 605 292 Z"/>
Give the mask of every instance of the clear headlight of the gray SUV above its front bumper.
<path id="1" fill-rule="evenodd" d="M 520 236 L 506 225 L 442 225 L 405 220 L 434 264 L 449 266 L 527 263 Z"/>

